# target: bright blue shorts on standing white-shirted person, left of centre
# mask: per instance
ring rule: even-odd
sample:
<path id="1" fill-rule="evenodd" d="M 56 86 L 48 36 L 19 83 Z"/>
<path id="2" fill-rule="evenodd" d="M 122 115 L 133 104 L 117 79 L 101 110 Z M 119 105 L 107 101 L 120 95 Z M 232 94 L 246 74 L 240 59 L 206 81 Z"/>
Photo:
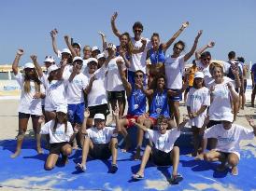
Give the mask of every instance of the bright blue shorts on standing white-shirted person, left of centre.
<path id="1" fill-rule="evenodd" d="M 83 113 L 85 110 L 85 104 L 84 102 L 78 103 L 78 104 L 68 104 L 67 105 L 68 111 L 67 111 L 67 117 L 68 121 L 71 124 L 82 124 L 83 122 Z"/>

